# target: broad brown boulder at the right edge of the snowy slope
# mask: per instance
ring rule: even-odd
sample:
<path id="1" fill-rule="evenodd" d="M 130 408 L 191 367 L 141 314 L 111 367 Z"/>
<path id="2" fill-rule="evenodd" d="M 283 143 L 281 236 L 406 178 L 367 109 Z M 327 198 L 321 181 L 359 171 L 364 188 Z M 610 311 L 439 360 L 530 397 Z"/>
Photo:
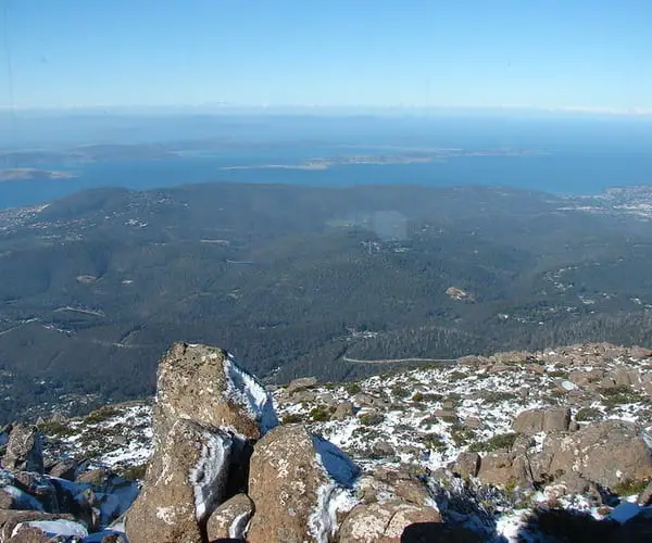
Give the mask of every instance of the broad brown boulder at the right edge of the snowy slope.
<path id="1" fill-rule="evenodd" d="M 604 420 L 548 437 L 536 467 L 538 479 L 575 471 L 613 489 L 652 477 L 652 454 L 635 424 Z"/>

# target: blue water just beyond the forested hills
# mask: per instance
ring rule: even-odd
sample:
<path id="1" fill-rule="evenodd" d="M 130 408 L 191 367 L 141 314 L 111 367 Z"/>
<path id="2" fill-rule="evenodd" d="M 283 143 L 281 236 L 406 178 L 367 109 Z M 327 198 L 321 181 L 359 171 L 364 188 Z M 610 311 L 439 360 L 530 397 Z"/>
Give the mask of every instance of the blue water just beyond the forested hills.
<path id="1" fill-rule="evenodd" d="M 342 165 L 326 171 L 243 169 L 223 166 L 298 164 L 314 156 L 365 153 L 341 148 L 267 149 L 192 154 L 161 161 L 99 162 L 70 165 L 78 177 L 0 184 L 0 209 L 33 205 L 83 189 L 136 190 L 216 180 L 342 187 L 351 185 L 505 186 L 557 194 L 595 194 L 612 186 L 652 184 L 652 153 L 645 149 L 565 148 L 528 156 L 466 156 L 428 164 Z M 376 152 L 378 152 L 376 150 Z M 52 165 L 52 169 L 61 165 Z"/>

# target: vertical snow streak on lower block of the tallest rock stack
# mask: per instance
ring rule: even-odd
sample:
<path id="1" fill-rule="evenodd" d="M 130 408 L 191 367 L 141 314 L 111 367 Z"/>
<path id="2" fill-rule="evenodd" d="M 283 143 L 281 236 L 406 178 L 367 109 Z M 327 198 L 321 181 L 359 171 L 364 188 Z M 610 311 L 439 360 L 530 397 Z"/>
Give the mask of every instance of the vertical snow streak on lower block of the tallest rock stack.
<path id="1" fill-rule="evenodd" d="M 190 469 L 188 478 L 195 492 L 195 512 L 198 520 L 203 520 L 222 497 L 228 477 L 228 460 L 233 440 L 224 432 L 205 431 L 204 442 L 197 465 Z"/>

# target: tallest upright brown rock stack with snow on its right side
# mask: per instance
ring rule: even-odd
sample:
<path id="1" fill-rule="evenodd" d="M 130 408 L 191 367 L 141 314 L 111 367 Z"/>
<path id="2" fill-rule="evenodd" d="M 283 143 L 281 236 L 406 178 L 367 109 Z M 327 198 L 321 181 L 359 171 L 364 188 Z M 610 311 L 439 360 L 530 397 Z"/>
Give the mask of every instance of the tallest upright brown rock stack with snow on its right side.
<path id="1" fill-rule="evenodd" d="M 159 365 L 153 454 L 126 517 L 129 542 L 205 541 L 227 487 L 246 484 L 249 442 L 276 424 L 271 396 L 228 353 L 173 345 Z"/>

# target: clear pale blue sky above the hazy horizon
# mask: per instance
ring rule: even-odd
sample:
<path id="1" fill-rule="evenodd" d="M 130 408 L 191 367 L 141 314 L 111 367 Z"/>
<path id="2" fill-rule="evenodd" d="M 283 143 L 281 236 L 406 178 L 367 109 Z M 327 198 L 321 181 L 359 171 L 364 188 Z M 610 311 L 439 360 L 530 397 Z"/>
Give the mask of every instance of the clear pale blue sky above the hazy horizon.
<path id="1" fill-rule="evenodd" d="M 0 105 L 652 110 L 652 0 L 0 0 Z"/>

